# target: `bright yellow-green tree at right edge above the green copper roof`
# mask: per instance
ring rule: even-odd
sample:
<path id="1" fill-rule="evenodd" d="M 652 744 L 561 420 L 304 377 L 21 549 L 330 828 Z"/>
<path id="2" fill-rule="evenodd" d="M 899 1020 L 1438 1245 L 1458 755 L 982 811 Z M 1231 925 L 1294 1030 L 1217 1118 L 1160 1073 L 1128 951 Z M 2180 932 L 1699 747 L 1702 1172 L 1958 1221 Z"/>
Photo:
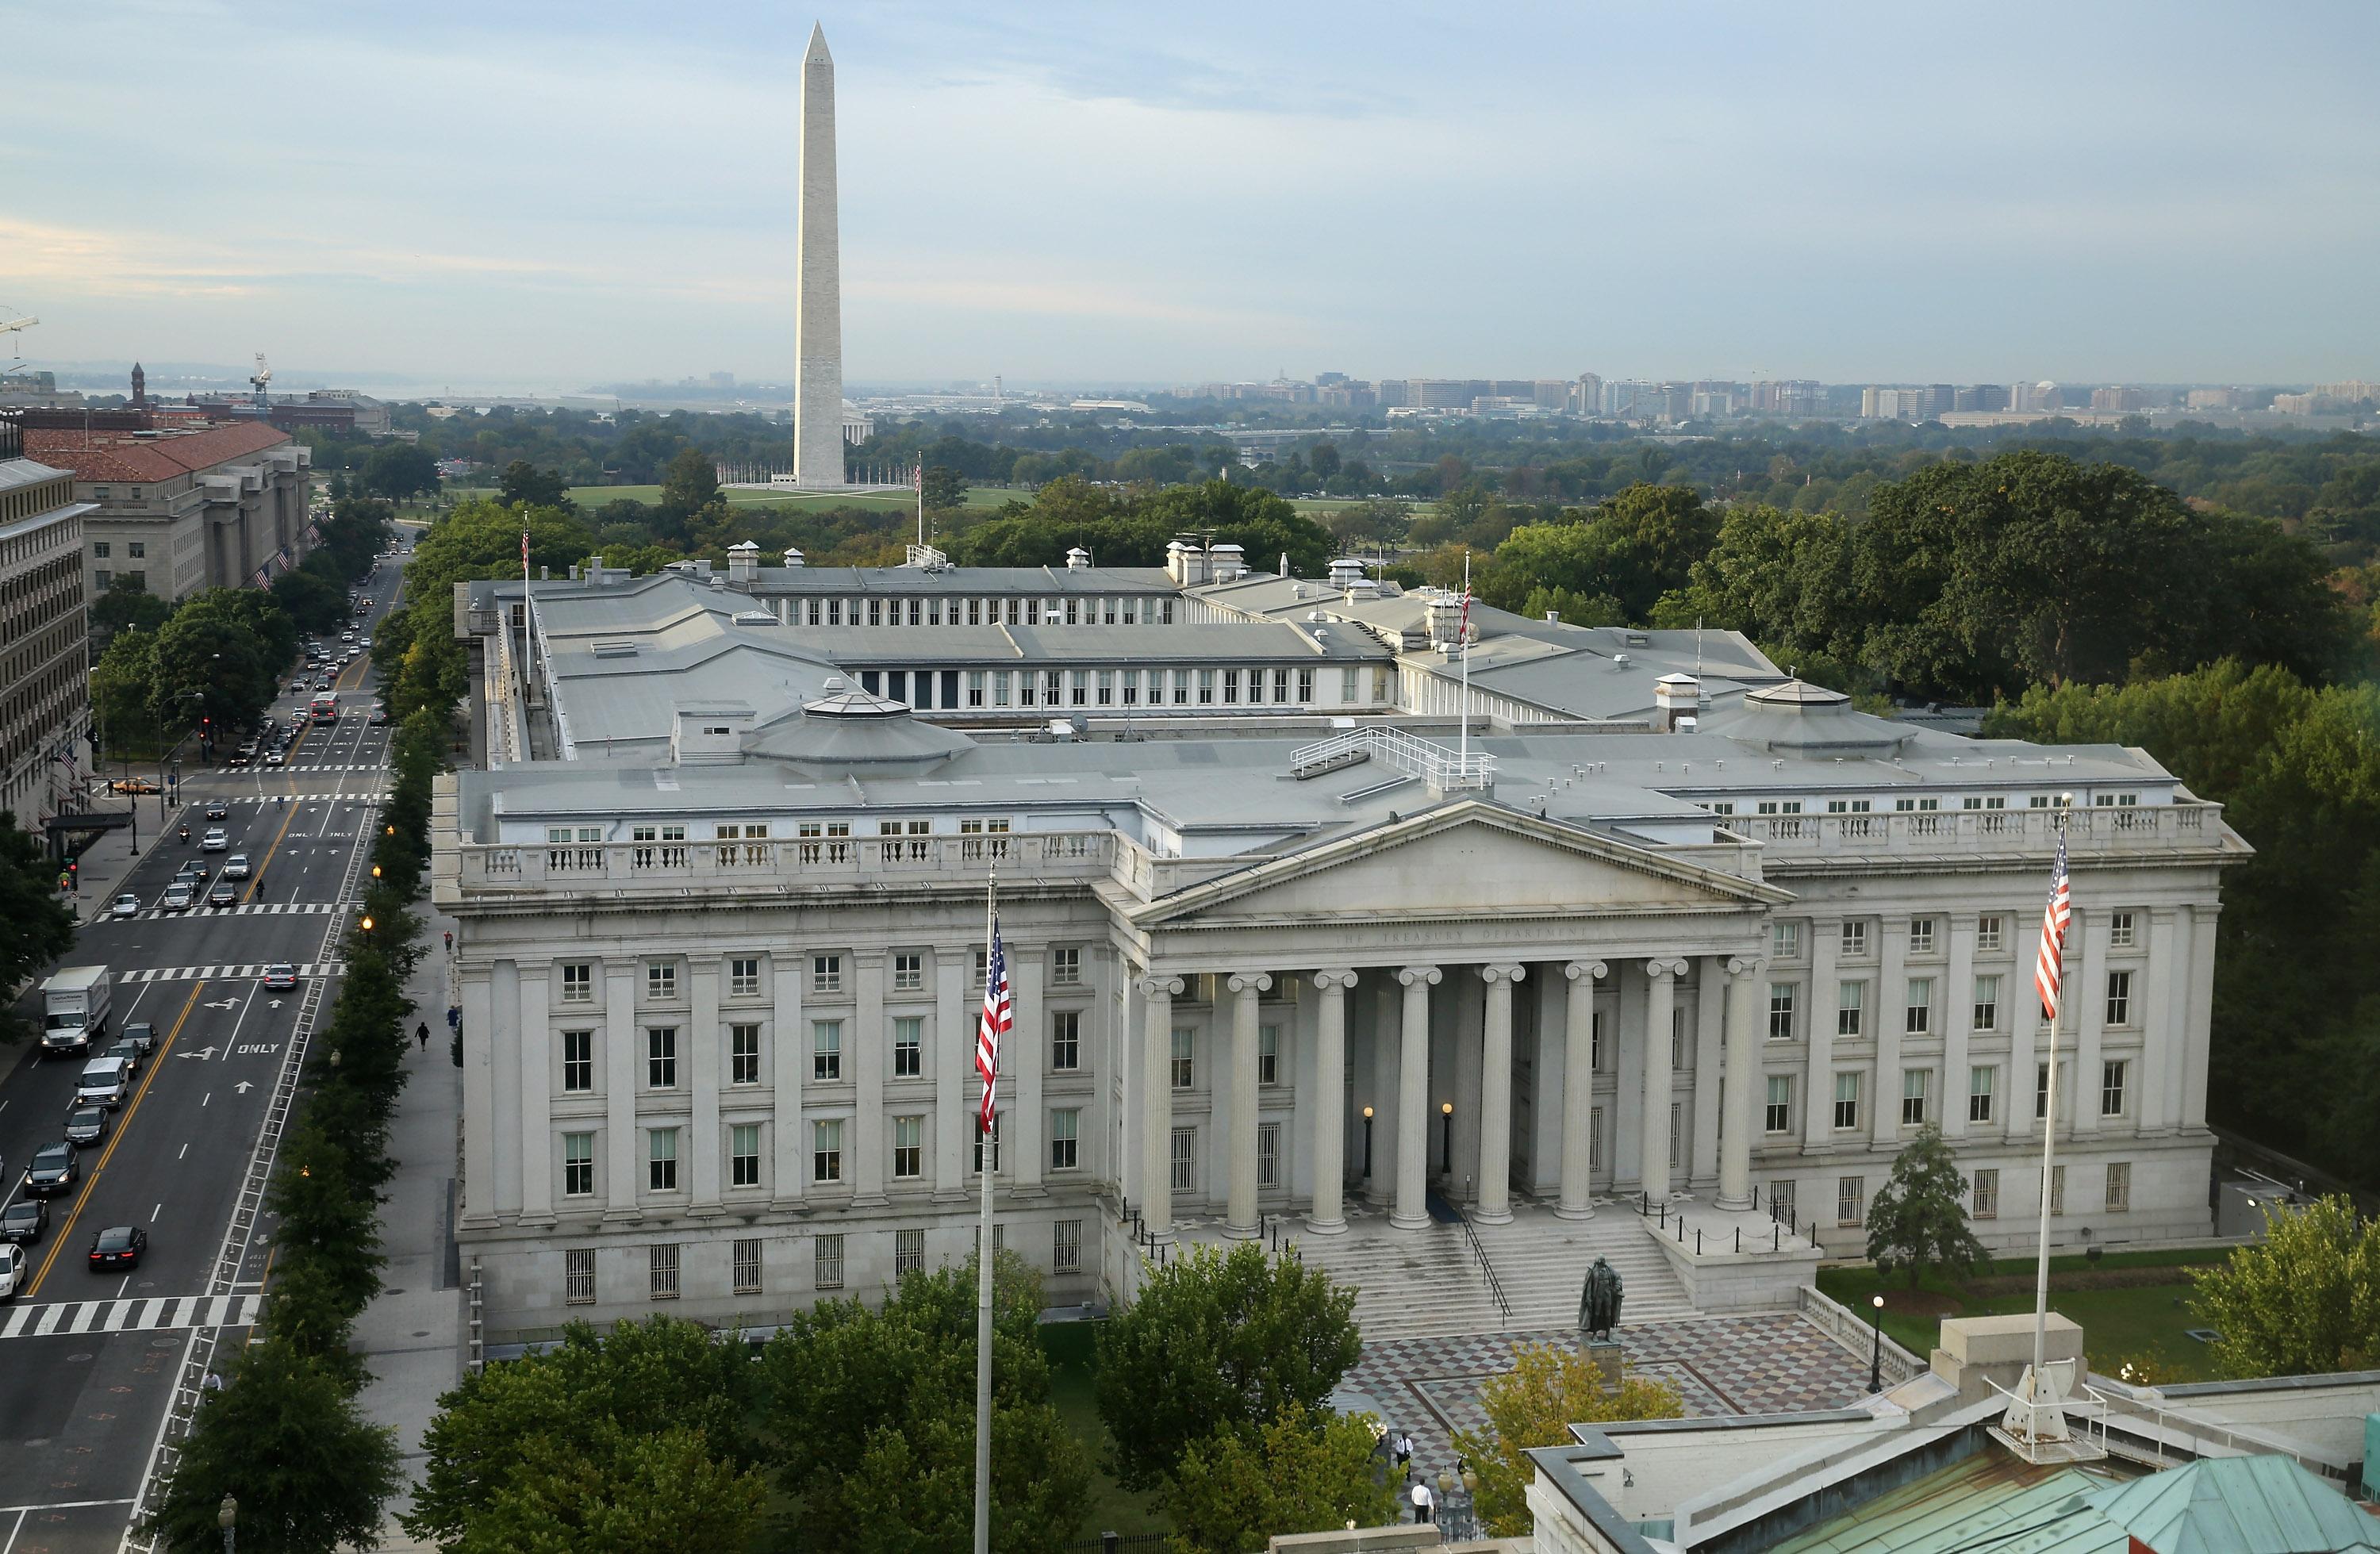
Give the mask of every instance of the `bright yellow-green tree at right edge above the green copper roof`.
<path id="1" fill-rule="evenodd" d="M 2368 1371 L 2380 1364 L 2380 1223 L 2344 1192 L 2271 1209 L 2261 1245 L 2197 1271 L 2192 1307 L 2221 1333 L 2211 1356 L 2228 1378 Z"/>

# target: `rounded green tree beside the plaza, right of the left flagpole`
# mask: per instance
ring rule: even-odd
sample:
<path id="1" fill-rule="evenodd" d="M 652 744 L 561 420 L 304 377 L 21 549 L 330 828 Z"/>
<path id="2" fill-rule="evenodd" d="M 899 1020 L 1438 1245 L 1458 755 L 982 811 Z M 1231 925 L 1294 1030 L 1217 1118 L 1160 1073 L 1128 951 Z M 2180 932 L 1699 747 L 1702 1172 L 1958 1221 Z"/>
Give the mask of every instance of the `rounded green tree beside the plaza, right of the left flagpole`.
<path id="1" fill-rule="evenodd" d="M 1128 1311 L 1100 1330 L 1100 1418 L 1114 1473 L 1159 1485 L 1216 1430 L 1254 1437 L 1283 1409 L 1321 1409 L 1364 1337 L 1354 1290 L 1257 1242 L 1192 1247 L 1147 1273 Z"/>

